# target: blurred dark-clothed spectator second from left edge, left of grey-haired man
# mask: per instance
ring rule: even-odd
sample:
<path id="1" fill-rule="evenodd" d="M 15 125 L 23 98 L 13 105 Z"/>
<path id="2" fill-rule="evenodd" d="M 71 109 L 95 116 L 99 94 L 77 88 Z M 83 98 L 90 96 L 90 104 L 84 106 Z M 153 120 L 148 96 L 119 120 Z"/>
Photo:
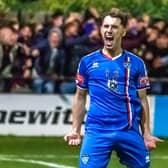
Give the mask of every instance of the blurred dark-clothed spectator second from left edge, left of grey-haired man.
<path id="1" fill-rule="evenodd" d="M 12 91 L 19 92 L 24 89 L 29 91 L 33 67 L 33 57 L 30 55 L 33 31 L 29 24 L 21 27 L 17 44 L 19 48 L 14 67 L 15 77 L 12 80 Z"/>

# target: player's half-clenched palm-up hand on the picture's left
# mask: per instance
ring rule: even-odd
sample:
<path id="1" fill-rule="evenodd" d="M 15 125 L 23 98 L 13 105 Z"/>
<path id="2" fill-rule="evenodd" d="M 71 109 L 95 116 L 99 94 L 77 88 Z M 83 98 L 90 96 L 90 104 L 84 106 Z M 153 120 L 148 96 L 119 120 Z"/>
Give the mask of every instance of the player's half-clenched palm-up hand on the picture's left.
<path id="1" fill-rule="evenodd" d="M 81 135 L 79 133 L 71 132 L 64 136 L 64 140 L 68 142 L 69 145 L 77 146 L 81 143 Z"/>

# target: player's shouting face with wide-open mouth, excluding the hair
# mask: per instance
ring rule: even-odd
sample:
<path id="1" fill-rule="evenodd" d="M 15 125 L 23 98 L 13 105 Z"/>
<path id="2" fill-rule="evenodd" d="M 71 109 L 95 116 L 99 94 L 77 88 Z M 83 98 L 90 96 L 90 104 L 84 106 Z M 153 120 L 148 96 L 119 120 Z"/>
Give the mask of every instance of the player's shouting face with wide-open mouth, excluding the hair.
<path id="1" fill-rule="evenodd" d="M 122 37 L 125 35 L 125 28 L 118 17 L 106 16 L 101 26 L 101 35 L 104 47 L 107 50 L 115 50 L 121 47 Z"/>

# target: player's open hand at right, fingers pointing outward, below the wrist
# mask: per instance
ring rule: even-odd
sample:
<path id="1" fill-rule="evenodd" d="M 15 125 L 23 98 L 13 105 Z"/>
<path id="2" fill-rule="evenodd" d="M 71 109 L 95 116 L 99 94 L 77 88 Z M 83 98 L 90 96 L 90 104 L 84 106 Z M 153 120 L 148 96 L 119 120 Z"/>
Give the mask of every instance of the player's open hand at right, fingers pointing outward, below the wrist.
<path id="1" fill-rule="evenodd" d="M 152 150 L 156 148 L 158 142 L 163 142 L 163 140 L 152 135 L 145 135 L 144 142 L 147 149 Z"/>

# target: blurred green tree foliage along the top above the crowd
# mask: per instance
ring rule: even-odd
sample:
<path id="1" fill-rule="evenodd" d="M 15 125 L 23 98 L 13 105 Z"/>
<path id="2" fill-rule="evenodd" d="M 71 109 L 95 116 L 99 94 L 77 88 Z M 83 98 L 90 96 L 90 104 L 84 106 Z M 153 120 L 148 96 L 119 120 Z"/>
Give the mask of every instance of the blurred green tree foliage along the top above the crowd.
<path id="1" fill-rule="evenodd" d="M 167 19 L 168 0 L 0 0 L 0 11 L 52 12 L 57 9 L 65 13 L 84 11 L 96 7 L 99 12 L 119 7 L 133 15 L 147 13 L 152 17 Z"/>

